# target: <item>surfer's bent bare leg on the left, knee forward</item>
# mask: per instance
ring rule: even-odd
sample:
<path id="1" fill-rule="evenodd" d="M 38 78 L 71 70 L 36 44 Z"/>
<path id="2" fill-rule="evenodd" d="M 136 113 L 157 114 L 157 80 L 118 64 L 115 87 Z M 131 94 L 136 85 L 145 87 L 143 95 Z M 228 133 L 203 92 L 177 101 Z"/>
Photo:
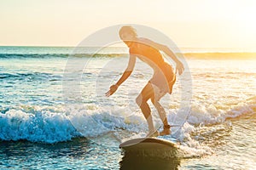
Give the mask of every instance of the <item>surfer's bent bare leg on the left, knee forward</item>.
<path id="1" fill-rule="evenodd" d="M 148 84 L 143 88 L 141 94 L 139 94 L 136 99 L 137 105 L 140 106 L 141 110 L 143 111 L 143 116 L 148 122 L 148 135 L 155 132 L 151 110 L 147 103 L 148 99 L 152 98 L 152 96 L 154 96 L 154 89 L 152 88 L 151 83 L 148 82 Z"/>

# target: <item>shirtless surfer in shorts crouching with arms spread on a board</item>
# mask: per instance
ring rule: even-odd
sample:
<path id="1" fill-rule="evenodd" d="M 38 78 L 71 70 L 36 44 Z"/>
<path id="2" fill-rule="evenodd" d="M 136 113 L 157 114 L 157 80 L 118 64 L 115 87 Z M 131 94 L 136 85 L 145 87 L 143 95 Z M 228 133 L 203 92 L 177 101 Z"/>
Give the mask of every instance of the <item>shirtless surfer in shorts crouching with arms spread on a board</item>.
<path id="1" fill-rule="evenodd" d="M 171 134 L 171 126 L 167 121 L 165 109 L 160 105 L 160 99 L 167 93 L 172 94 L 172 86 L 176 81 L 176 75 L 172 66 L 166 63 L 162 54 L 160 54 L 160 51 L 164 52 L 175 61 L 176 72 L 178 72 L 179 75 L 184 71 L 183 63 L 177 59 L 175 54 L 172 53 L 172 50 L 166 45 L 153 42 L 148 38 L 137 37 L 136 30 L 131 26 L 123 26 L 119 30 L 119 37 L 129 48 L 130 59 L 122 77 L 120 77 L 119 81 L 110 87 L 106 96 L 109 97 L 112 95 L 119 86 L 125 82 L 128 77 L 130 77 L 131 72 L 134 69 L 136 59 L 141 59 L 154 70 L 153 77 L 148 81 L 136 99 L 137 105 L 140 106 L 143 116 L 148 122 L 149 132 L 147 137 Z M 160 133 L 154 129 L 151 110 L 147 103 L 148 99 L 151 100 L 160 115 L 161 121 L 163 122 L 164 127 Z"/>

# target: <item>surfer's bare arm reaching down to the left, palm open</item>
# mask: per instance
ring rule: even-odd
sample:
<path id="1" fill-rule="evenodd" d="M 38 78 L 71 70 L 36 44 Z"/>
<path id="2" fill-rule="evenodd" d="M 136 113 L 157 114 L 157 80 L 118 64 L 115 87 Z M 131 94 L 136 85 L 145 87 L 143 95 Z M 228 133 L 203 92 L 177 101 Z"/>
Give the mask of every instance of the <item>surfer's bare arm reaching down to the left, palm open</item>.
<path id="1" fill-rule="evenodd" d="M 131 72 L 133 71 L 134 69 L 134 65 L 135 65 L 135 62 L 136 62 L 136 56 L 134 55 L 130 55 L 130 59 L 129 59 L 129 63 L 128 63 L 128 66 L 127 68 L 125 69 L 122 77 L 119 78 L 119 81 L 116 82 L 114 85 L 112 85 L 110 87 L 110 89 L 108 90 L 108 92 L 106 93 L 106 96 L 109 97 L 111 96 L 118 88 L 119 86 L 125 82 L 125 80 L 130 77 L 131 75 Z"/>

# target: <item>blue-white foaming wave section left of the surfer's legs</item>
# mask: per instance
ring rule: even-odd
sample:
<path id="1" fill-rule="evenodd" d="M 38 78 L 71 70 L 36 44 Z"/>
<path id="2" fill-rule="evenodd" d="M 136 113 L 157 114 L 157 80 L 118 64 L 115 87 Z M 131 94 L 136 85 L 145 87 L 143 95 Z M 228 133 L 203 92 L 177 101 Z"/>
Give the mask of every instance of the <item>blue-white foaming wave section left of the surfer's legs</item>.
<path id="1" fill-rule="evenodd" d="M 90 139 L 120 129 L 135 129 L 135 124 L 125 123 L 124 117 L 108 111 L 95 112 L 91 107 L 66 109 L 61 106 L 0 108 L 0 139 L 51 144 L 75 137 Z M 136 129 L 136 132 L 142 130 Z"/>

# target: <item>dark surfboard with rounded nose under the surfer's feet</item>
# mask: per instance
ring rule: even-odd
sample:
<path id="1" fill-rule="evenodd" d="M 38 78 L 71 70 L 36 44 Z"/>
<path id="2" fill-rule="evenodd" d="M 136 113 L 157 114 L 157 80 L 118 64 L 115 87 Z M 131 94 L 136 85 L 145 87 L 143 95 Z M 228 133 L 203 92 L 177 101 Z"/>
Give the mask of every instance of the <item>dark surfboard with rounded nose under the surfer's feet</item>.
<path id="1" fill-rule="evenodd" d="M 119 148 L 128 150 L 177 150 L 178 145 L 171 140 L 158 138 L 130 139 L 121 144 Z"/>

